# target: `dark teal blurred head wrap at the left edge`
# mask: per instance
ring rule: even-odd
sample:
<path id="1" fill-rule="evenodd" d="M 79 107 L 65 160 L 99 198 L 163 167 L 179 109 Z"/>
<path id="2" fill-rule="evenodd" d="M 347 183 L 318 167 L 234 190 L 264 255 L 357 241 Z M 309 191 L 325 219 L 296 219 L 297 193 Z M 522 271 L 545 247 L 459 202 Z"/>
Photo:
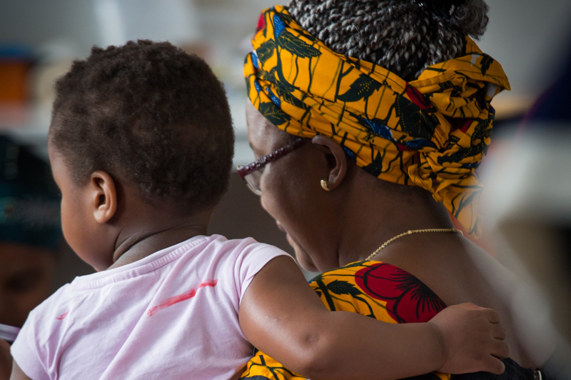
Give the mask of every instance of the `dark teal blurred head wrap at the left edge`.
<path id="1" fill-rule="evenodd" d="M 59 196 L 49 165 L 0 136 L 0 243 L 55 250 L 61 238 Z"/>

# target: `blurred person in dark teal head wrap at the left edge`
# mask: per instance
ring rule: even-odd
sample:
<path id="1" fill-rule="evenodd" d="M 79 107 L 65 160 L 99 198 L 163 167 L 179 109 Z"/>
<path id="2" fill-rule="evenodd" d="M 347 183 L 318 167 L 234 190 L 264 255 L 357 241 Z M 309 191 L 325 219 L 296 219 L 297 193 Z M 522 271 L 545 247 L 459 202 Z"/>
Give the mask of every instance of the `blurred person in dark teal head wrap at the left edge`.
<path id="1" fill-rule="evenodd" d="M 0 324 L 21 327 L 51 292 L 61 244 L 59 197 L 48 164 L 0 135 Z M 0 339 L 0 379 L 10 376 Z"/>

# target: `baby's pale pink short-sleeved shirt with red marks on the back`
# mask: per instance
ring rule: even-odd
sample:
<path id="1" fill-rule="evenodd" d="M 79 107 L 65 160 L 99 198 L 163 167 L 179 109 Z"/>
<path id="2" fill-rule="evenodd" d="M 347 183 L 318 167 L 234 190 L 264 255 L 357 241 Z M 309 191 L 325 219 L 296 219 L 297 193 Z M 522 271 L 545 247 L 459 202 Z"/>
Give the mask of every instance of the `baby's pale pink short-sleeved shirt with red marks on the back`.
<path id="1" fill-rule="evenodd" d="M 253 352 L 241 298 L 282 255 L 251 238 L 196 236 L 77 277 L 31 312 L 11 354 L 34 380 L 231 379 Z"/>

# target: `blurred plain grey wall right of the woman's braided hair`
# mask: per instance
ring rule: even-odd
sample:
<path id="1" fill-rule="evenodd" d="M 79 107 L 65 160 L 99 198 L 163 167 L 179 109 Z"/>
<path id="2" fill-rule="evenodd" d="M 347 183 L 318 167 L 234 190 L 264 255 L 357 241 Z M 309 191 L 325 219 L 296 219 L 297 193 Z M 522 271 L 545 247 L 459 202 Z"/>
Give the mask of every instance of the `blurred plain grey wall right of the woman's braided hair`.
<path id="1" fill-rule="evenodd" d="M 512 96 L 535 96 L 571 53 L 571 0 L 487 0 L 480 47 L 504 67 Z"/>

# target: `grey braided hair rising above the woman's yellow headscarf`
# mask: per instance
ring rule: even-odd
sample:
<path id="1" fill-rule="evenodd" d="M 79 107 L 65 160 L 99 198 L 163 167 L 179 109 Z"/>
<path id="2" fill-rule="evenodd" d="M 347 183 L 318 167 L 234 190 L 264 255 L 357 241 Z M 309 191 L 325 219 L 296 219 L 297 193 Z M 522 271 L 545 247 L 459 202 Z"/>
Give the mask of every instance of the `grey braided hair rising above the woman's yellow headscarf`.
<path id="1" fill-rule="evenodd" d="M 489 7 L 467 0 L 451 14 L 418 0 L 291 0 L 303 29 L 330 49 L 412 81 L 432 64 L 463 55 L 465 36 L 485 32 Z"/>

